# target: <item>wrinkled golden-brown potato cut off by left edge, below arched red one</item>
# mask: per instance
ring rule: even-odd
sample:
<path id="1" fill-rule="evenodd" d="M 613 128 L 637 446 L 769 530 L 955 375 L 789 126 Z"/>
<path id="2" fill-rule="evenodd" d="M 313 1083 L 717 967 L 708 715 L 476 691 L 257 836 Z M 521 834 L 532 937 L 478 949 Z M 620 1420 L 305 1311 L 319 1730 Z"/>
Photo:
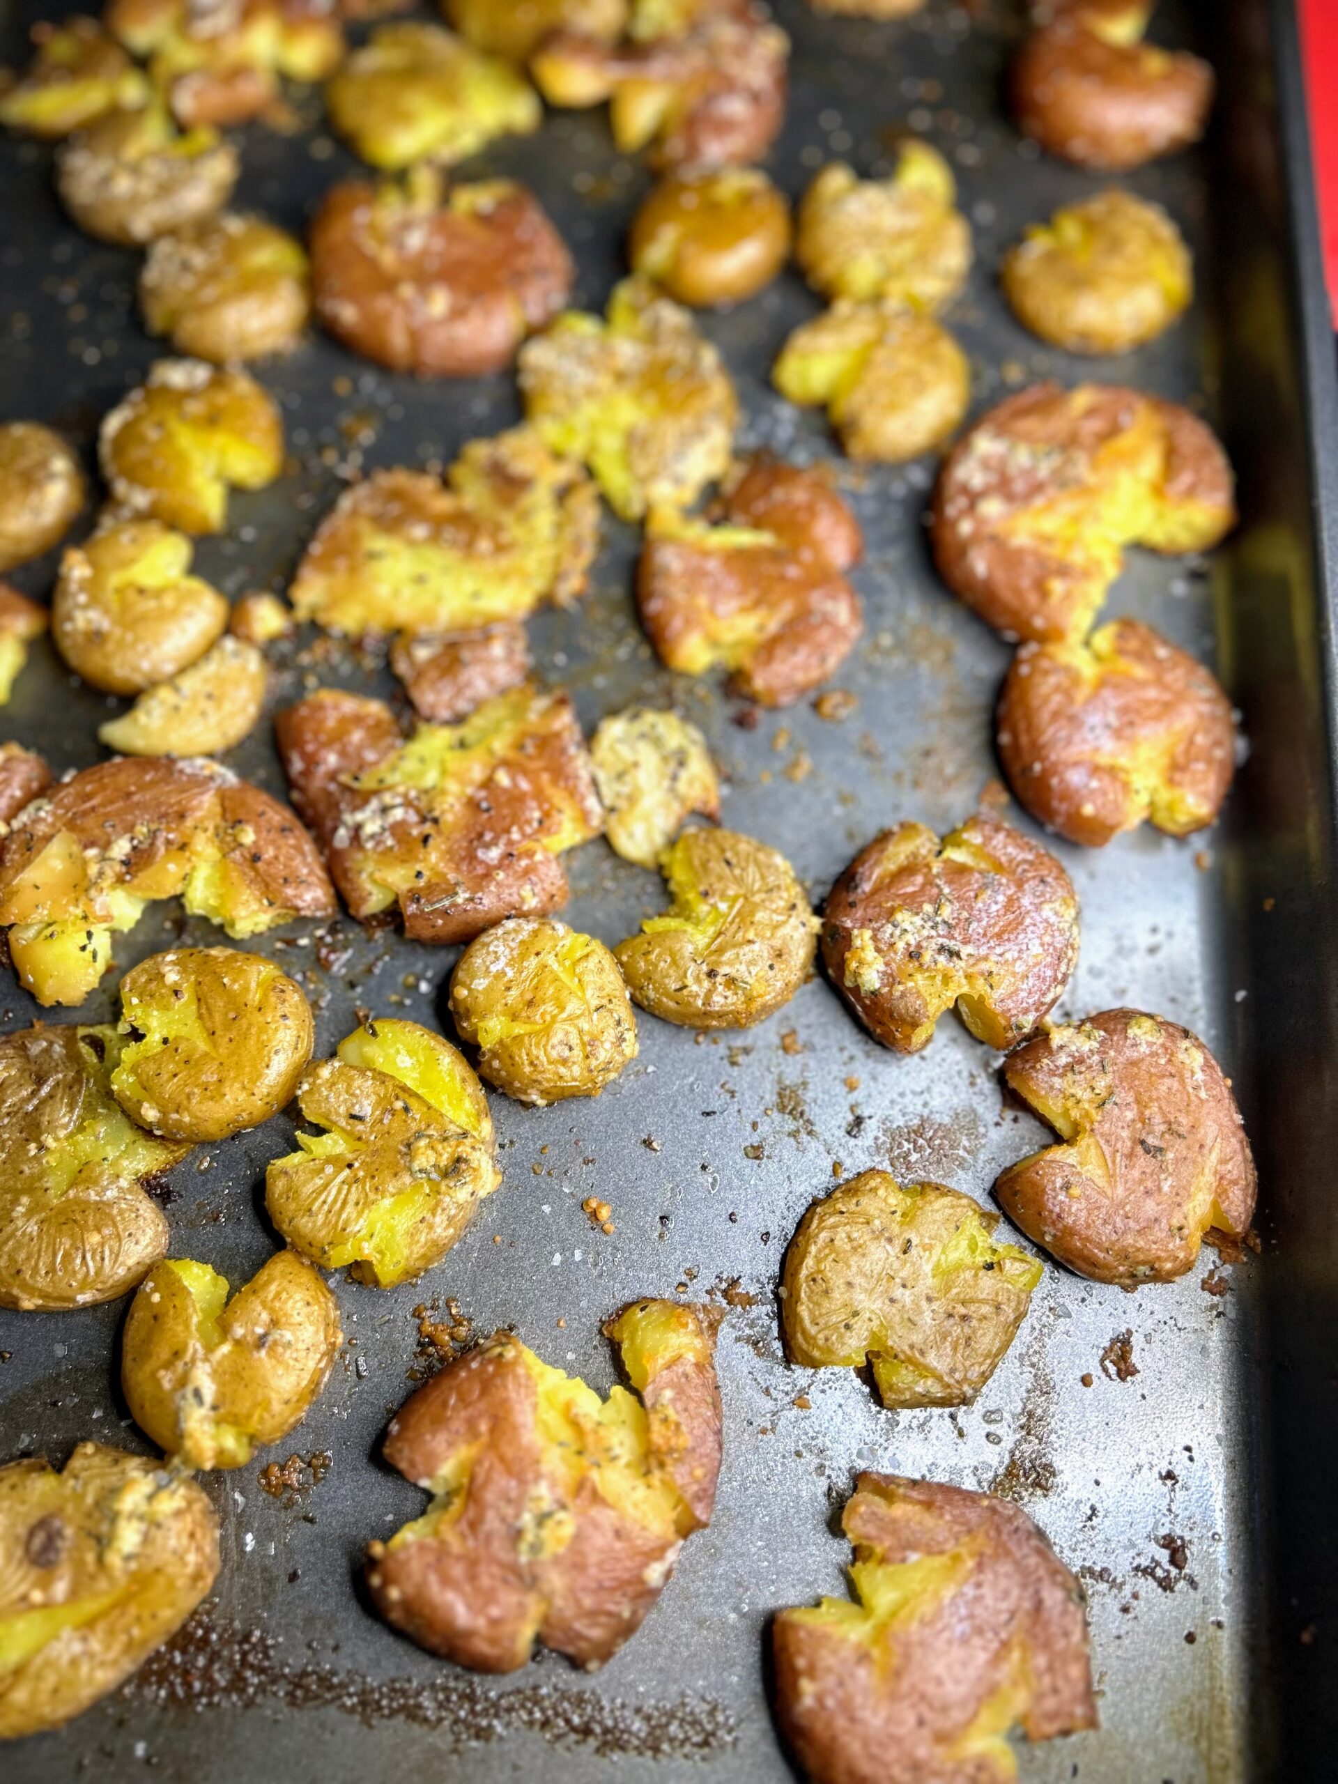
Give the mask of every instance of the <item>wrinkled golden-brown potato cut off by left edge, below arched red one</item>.
<path id="1" fill-rule="evenodd" d="M 0 1306 L 116 1301 L 168 1249 L 145 1185 L 191 1149 L 141 1133 L 116 1106 L 121 1045 L 114 1028 L 0 1035 Z"/>

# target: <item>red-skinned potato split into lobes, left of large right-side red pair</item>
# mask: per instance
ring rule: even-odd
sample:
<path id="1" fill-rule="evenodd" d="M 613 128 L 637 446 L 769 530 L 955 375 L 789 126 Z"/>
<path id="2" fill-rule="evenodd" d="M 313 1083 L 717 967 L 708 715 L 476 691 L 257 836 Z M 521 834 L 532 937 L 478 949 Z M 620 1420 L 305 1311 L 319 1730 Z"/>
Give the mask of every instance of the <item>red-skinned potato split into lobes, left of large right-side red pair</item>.
<path id="1" fill-rule="evenodd" d="M 739 466 L 719 524 L 653 512 L 637 607 L 660 660 L 681 674 L 717 664 L 762 706 L 803 699 L 851 653 L 863 628 L 846 571 L 860 526 L 815 469 Z"/>

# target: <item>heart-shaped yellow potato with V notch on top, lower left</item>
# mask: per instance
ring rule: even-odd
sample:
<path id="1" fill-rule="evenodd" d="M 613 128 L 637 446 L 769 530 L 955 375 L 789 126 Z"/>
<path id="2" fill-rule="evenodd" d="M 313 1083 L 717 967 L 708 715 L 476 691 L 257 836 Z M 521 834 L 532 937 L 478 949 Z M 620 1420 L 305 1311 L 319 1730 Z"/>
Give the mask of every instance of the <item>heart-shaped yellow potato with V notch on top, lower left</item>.
<path id="1" fill-rule="evenodd" d="M 130 1302 L 125 1404 L 184 1468 L 244 1468 L 301 1424 L 341 1343 L 339 1302 L 294 1251 L 232 1297 L 207 1263 L 168 1258 Z"/>

